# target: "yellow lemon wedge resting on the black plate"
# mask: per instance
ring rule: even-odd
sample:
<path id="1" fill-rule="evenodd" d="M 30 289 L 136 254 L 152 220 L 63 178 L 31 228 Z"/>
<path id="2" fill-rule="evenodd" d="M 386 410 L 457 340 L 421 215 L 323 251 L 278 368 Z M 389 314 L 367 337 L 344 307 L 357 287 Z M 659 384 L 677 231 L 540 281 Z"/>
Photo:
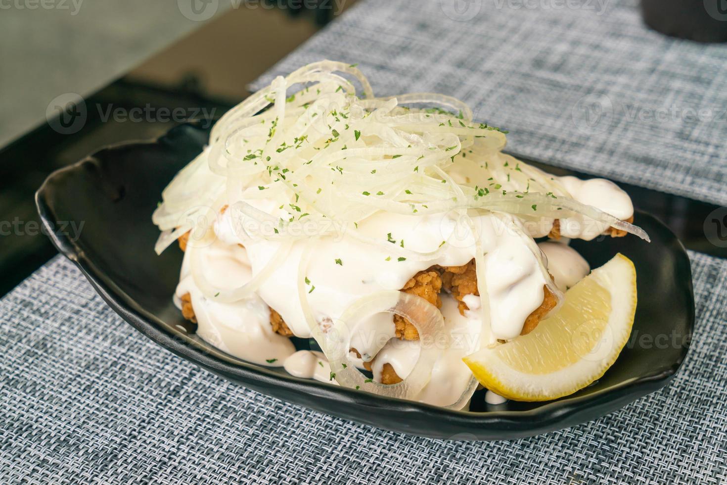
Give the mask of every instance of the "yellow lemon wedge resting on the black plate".
<path id="1" fill-rule="evenodd" d="M 623 254 L 566 293 L 527 335 L 462 360 L 486 388 L 515 401 L 568 396 L 600 378 L 626 344 L 636 311 L 636 270 Z"/>

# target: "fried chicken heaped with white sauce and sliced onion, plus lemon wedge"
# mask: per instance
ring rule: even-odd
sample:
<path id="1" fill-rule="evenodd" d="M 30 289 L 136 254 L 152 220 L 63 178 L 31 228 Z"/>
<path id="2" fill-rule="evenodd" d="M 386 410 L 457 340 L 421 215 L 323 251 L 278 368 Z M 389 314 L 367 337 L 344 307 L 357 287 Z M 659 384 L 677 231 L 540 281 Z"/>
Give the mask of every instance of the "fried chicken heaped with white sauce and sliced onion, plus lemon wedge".
<path id="1" fill-rule="evenodd" d="M 564 240 L 648 235 L 614 183 L 504 147 L 459 100 L 375 98 L 353 65 L 278 77 L 162 193 L 156 250 L 185 250 L 177 306 L 230 355 L 381 396 L 463 409 L 480 384 L 574 393 L 625 345 L 637 284 L 622 256 L 587 276 Z M 594 332 L 613 337 L 603 355 Z"/>

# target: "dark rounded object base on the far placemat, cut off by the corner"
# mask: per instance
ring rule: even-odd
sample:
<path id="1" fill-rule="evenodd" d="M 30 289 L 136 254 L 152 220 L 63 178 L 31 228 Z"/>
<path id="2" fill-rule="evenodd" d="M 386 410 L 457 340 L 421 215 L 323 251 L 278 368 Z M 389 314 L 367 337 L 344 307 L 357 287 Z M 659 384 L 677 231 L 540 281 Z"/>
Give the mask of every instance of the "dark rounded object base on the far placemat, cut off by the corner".
<path id="1" fill-rule="evenodd" d="M 641 0 L 646 25 L 667 36 L 727 42 L 727 0 Z"/>

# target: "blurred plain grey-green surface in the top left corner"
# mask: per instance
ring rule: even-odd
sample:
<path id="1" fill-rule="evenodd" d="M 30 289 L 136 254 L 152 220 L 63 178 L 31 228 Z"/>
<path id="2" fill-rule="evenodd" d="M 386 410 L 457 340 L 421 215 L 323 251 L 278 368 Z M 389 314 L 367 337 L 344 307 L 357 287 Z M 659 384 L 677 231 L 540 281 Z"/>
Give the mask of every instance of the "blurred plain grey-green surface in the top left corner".
<path id="1" fill-rule="evenodd" d="M 176 2 L 44 4 L 55 8 L 8 1 L 0 15 L 0 92 L 12 93 L 0 99 L 0 147 L 44 123 L 57 96 L 90 95 L 201 25 Z"/>

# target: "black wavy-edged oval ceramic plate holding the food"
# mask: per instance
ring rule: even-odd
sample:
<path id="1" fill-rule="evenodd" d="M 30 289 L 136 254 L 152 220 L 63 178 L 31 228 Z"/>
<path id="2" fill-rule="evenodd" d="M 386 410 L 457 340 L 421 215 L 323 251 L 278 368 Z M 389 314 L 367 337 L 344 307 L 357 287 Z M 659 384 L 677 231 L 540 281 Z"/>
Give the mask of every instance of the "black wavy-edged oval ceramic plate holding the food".
<path id="1" fill-rule="evenodd" d="M 694 325 L 689 260 L 678 239 L 654 217 L 639 212 L 651 244 L 633 236 L 574 246 L 592 267 L 616 252 L 633 260 L 638 308 L 632 340 L 616 364 L 588 388 L 544 403 L 484 403 L 470 412 L 374 396 L 281 369 L 248 364 L 198 340 L 172 304 L 182 252 L 157 256 L 151 223 L 162 189 L 202 149 L 207 132 L 187 124 L 149 143 L 105 148 L 52 174 L 37 193 L 44 224 L 57 248 L 81 268 L 97 292 L 129 324 L 164 348 L 248 388 L 369 425 L 433 438 L 510 439 L 593 420 L 664 386 L 686 356 Z M 77 241 L 55 233 L 60 221 L 84 221 Z M 675 335 L 658 345 L 660 335 Z M 636 337 L 635 339 L 633 337 Z"/>

